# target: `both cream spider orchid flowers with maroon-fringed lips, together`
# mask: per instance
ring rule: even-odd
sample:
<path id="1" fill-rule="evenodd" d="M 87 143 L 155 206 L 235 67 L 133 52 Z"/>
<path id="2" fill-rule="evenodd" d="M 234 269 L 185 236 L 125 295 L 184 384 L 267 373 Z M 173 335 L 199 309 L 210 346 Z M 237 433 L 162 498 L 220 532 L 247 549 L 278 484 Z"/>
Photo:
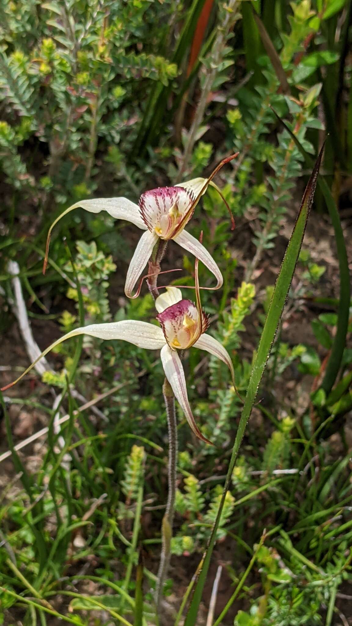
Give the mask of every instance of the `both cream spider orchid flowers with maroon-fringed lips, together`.
<path id="1" fill-rule="evenodd" d="M 185 250 L 191 252 L 195 256 L 195 296 L 196 304 L 191 300 L 183 299 L 182 292 L 177 287 L 166 287 L 166 292 L 159 295 L 155 300 L 155 307 L 158 311 L 157 321 L 160 326 L 135 320 L 123 320 L 120 322 L 110 322 L 106 324 L 91 324 L 90 326 L 76 328 L 68 332 L 66 335 L 55 341 L 51 346 L 46 348 L 44 352 L 34 361 L 31 366 L 26 369 L 16 381 L 3 387 L 2 391 L 8 389 L 18 382 L 41 357 L 48 354 L 54 347 L 70 337 L 86 334 L 99 339 L 121 339 L 128 341 L 137 347 L 155 350 L 160 349 L 160 357 L 162 359 L 163 369 L 173 394 L 179 401 L 185 417 L 192 431 L 205 441 L 211 443 L 200 432 L 190 408 L 187 396 L 187 387 L 185 382 L 184 369 L 180 360 L 178 351 L 184 351 L 190 347 L 197 347 L 205 350 L 210 354 L 218 357 L 230 369 L 232 382 L 234 384 L 234 368 L 229 353 L 225 348 L 207 334 L 205 331 L 209 326 L 207 316 L 202 309 L 200 303 L 200 287 L 198 278 L 198 264 L 201 260 L 204 265 L 215 275 L 217 284 L 210 289 L 219 289 L 223 279 L 219 267 L 212 259 L 211 255 L 205 249 L 200 241 L 192 237 L 184 230 L 185 225 L 189 222 L 194 213 L 195 206 L 200 197 L 207 190 L 208 185 L 212 185 L 225 202 L 222 193 L 217 185 L 212 182 L 214 175 L 219 172 L 220 168 L 235 158 L 236 155 L 225 158 L 210 174 L 209 178 L 195 178 L 189 182 L 181 183 L 177 187 L 162 187 L 147 191 L 142 194 L 139 205 L 127 200 L 127 198 L 102 198 L 96 200 L 82 200 L 66 209 L 61 213 L 55 222 L 49 228 L 48 240 L 46 244 L 46 258 L 44 260 L 44 271 L 48 259 L 48 249 L 51 231 L 54 225 L 63 215 L 69 213 L 74 208 L 82 207 L 91 213 L 100 213 L 105 210 L 112 217 L 128 220 L 137 225 L 146 232 L 143 233 L 135 253 L 133 254 L 130 266 L 128 267 L 127 278 L 125 283 L 125 294 L 133 297 L 133 289 L 138 278 L 143 272 L 143 268 L 147 264 L 152 255 L 155 244 L 158 240 L 168 241 L 170 239 L 176 241 Z M 226 203 L 226 202 L 225 202 Z M 227 204 L 227 203 L 226 203 Z M 229 212 L 230 209 L 227 206 Z M 230 213 L 231 215 L 231 213 Z M 232 218 L 232 215 L 231 215 Z M 232 218 L 232 228 L 234 221 Z M 205 288 L 204 288 L 205 289 Z M 139 289 L 137 291 L 137 294 Z M 235 384 L 234 384 L 235 386 Z M 236 386 L 235 386 L 236 389 Z"/>

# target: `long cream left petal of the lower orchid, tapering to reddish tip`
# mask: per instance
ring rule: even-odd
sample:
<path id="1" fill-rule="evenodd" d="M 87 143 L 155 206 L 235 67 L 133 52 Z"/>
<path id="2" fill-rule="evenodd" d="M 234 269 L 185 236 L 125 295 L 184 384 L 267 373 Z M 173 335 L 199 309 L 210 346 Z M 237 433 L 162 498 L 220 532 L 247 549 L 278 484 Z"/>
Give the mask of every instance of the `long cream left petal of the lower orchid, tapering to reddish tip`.
<path id="1" fill-rule="evenodd" d="M 90 335 L 90 337 L 97 337 L 98 339 L 120 339 L 122 341 L 128 341 L 130 344 L 140 348 L 146 348 L 148 350 L 158 350 L 165 346 L 165 337 L 163 331 L 154 324 L 148 324 L 148 322 L 138 322 L 137 320 L 122 320 L 121 322 L 109 322 L 108 324 L 90 324 L 89 326 L 82 326 L 76 328 L 73 331 L 68 332 L 63 337 L 60 337 L 57 341 L 54 341 L 51 346 L 46 348 L 38 359 L 36 359 L 26 371 L 19 376 L 16 381 L 10 382 L 5 387 L 2 387 L 1 391 L 6 391 L 9 387 L 12 387 L 16 382 L 20 381 L 23 376 L 26 376 L 32 367 L 40 361 L 43 356 L 46 356 L 48 352 L 53 350 L 54 347 L 61 344 L 66 339 L 76 337 L 77 335 Z"/>

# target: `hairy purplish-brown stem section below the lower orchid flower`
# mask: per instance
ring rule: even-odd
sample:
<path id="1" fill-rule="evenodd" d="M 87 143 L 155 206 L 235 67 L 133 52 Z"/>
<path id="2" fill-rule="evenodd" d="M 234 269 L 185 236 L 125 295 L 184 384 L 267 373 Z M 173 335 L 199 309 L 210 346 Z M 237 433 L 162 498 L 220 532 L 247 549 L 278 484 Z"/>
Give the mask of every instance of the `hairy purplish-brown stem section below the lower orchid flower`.
<path id="1" fill-rule="evenodd" d="M 171 557 L 172 526 L 176 495 L 176 463 L 177 463 L 177 424 L 175 413 L 175 396 L 170 383 L 165 378 L 163 382 L 163 399 L 165 401 L 168 426 L 168 496 L 165 515 L 162 522 L 162 554 L 160 557 L 157 585 L 155 587 L 155 603 L 160 613 L 160 603 L 163 595 L 163 585 L 167 575 Z"/>

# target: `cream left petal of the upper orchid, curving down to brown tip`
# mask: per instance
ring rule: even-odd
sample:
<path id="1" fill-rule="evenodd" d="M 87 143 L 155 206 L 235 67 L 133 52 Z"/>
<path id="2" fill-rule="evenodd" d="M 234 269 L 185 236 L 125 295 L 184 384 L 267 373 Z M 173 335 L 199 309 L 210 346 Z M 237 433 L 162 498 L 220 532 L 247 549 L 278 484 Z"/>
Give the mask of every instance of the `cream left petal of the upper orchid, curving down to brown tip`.
<path id="1" fill-rule="evenodd" d="M 56 226 L 56 224 L 61 220 L 61 217 L 64 217 L 64 215 L 67 215 L 67 213 L 70 213 L 75 208 L 79 207 L 84 208 L 90 213 L 100 213 L 101 211 L 106 211 L 106 213 L 109 213 L 111 217 L 115 217 L 116 220 L 126 220 L 127 222 L 132 222 L 138 226 L 138 228 L 142 228 L 142 230 L 147 229 L 147 226 L 143 222 L 142 215 L 140 214 L 138 205 L 131 202 L 131 200 L 128 200 L 127 198 L 93 198 L 92 200 L 80 200 L 80 202 L 76 202 L 71 205 L 71 207 L 66 208 L 66 210 L 51 224 L 48 237 L 46 239 L 43 274 L 45 274 L 46 266 L 48 265 L 50 238 L 54 226 Z"/>

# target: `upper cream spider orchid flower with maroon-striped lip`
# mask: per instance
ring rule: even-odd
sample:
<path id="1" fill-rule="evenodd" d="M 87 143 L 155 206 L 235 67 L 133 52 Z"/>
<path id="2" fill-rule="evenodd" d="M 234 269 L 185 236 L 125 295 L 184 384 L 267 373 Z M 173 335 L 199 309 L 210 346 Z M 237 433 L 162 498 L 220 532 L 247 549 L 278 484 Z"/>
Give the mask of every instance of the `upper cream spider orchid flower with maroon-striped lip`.
<path id="1" fill-rule="evenodd" d="M 222 160 L 215 168 L 214 172 L 210 174 L 209 178 L 194 178 L 185 183 L 180 183 L 175 187 L 158 187 L 157 189 L 142 193 L 138 205 L 131 202 L 131 200 L 127 200 L 127 198 L 96 198 L 76 202 L 61 213 L 49 228 L 43 272 L 45 272 L 46 269 L 49 242 L 53 227 L 63 215 L 70 213 L 70 211 L 75 208 L 81 207 L 90 213 L 106 211 L 116 219 L 127 220 L 127 222 L 132 222 L 138 226 L 138 228 L 145 230 L 137 244 L 137 248 L 135 249 L 128 267 L 125 283 L 125 294 L 127 297 L 132 297 L 135 284 L 150 259 L 155 244 L 157 244 L 160 239 L 167 241 L 173 239 L 177 244 L 182 246 L 182 248 L 187 250 L 187 252 L 190 252 L 197 259 L 202 261 L 217 280 L 214 289 L 219 289 L 223 283 L 219 267 L 204 245 L 195 239 L 195 237 L 192 237 L 184 228 L 190 218 L 192 218 L 195 206 L 199 202 L 200 197 L 202 197 L 203 193 L 207 190 L 208 185 L 215 187 L 224 200 L 219 188 L 212 182 L 212 178 L 225 163 L 228 163 L 236 156 L 237 154 L 231 155 Z M 234 228 L 233 218 L 232 228 Z"/>

